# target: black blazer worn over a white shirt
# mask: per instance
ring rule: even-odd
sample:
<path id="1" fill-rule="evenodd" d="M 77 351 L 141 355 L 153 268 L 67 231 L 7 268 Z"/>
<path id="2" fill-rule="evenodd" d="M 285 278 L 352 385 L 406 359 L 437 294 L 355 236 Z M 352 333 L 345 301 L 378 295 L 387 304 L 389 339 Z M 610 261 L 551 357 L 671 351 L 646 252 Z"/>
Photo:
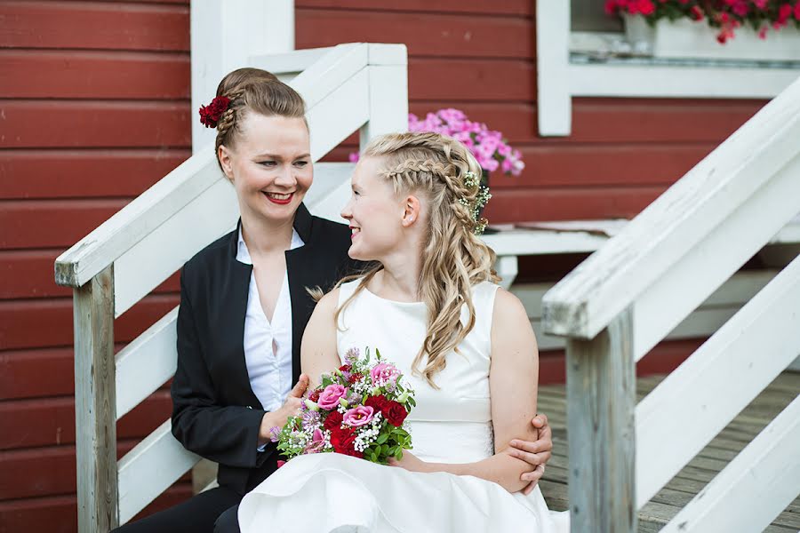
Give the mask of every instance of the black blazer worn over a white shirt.
<path id="1" fill-rule="evenodd" d="M 348 258 L 347 226 L 312 217 L 301 204 L 294 228 L 305 245 L 286 251 L 293 383 L 300 377 L 300 341 L 315 306 L 306 287 L 328 290 L 362 267 Z M 244 494 L 275 471 L 277 453 L 271 442 L 258 451 L 265 411 L 244 362 L 252 266 L 236 260 L 237 249 L 238 228 L 198 252 L 181 272 L 172 434 L 186 449 L 220 464 L 220 485 Z"/>

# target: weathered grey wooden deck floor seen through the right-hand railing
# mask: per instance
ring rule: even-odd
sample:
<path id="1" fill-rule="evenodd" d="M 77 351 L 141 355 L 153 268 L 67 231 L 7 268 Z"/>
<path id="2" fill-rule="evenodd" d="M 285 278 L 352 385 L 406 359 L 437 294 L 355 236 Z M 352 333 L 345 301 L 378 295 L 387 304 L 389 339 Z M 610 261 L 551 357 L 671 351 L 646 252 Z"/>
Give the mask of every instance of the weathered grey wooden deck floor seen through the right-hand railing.
<path id="1" fill-rule="evenodd" d="M 663 376 L 639 378 L 636 393 L 641 400 Z M 800 394 L 800 373 L 784 372 L 745 410 L 734 418 L 700 454 L 639 511 L 639 531 L 659 531 L 676 513 L 711 481 L 728 462 L 747 446 L 764 427 Z M 541 386 L 539 411 L 548 415 L 553 428 L 553 457 L 548 462 L 540 487 L 548 506 L 567 508 L 567 434 L 564 386 Z M 691 413 L 687 413 L 691 416 Z M 800 497 L 765 531 L 795 533 L 800 530 Z"/>

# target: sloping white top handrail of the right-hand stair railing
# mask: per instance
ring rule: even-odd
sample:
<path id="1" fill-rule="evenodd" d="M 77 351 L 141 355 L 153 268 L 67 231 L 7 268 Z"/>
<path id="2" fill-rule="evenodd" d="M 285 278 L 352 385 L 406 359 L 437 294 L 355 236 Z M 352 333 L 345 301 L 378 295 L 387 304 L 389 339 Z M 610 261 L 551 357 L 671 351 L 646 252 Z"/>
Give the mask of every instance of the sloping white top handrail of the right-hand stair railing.
<path id="1" fill-rule="evenodd" d="M 548 292 L 543 302 L 548 332 L 594 338 L 759 188 L 766 187 L 797 155 L 796 139 L 800 139 L 800 80 Z M 764 235 L 762 243 L 780 226 L 768 229 L 772 233 Z M 708 290 L 722 281 L 716 280 Z"/>

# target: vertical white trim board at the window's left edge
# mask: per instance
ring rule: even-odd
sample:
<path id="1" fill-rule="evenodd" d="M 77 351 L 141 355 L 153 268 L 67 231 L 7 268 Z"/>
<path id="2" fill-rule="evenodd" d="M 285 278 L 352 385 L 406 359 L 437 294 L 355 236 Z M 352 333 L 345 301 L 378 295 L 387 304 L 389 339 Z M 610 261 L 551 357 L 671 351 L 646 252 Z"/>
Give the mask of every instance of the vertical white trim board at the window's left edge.
<path id="1" fill-rule="evenodd" d="M 564 137 L 572 131 L 570 26 L 569 2 L 537 0 L 536 109 L 543 137 Z"/>

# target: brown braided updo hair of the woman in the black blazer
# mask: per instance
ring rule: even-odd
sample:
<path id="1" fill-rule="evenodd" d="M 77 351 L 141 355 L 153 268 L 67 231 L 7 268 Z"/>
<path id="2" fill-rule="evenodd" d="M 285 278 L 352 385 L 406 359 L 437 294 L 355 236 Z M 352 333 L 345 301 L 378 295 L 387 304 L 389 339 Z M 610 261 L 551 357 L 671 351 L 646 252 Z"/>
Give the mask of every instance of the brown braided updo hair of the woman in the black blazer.
<path id="1" fill-rule="evenodd" d="M 302 118 L 308 128 L 303 98 L 266 70 L 237 68 L 222 78 L 217 86 L 217 96 L 230 99 L 228 109 L 217 122 L 217 139 L 214 145 L 217 163 L 220 163 L 220 146 L 235 146 L 236 136 L 241 132 L 241 123 L 248 113 Z"/>

